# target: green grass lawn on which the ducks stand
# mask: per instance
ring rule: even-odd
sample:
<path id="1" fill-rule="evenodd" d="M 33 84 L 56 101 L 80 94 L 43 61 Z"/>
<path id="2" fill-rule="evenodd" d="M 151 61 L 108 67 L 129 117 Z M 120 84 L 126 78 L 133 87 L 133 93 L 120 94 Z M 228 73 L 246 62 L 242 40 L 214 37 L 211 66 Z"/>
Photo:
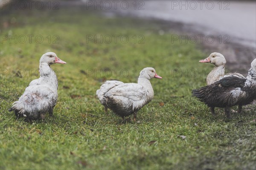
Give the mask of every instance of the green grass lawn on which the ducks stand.
<path id="1" fill-rule="evenodd" d="M 194 44 L 172 43 L 175 33 L 168 30 L 159 35 L 161 25 L 62 9 L 15 11 L 1 16 L 1 26 L 1 35 L 58 35 L 59 43 L 1 42 L 0 169 L 256 168 L 255 105 L 233 113 L 230 120 L 216 109 L 213 118 L 207 106 L 191 98 L 191 90 L 206 84 L 212 68 L 198 63 L 207 54 Z M 86 35 L 95 34 L 127 35 L 130 40 L 87 43 Z M 134 35 L 143 35 L 145 43 L 134 44 Z M 47 51 L 67 62 L 52 65 L 59 79 L 53 116 L 30 123 L 17 120 L 8 109 L 37 78 L 39 58 Z M 112 112 L 105 115 L 95 94 L 102 82 L 136 82 L 145 67 L 154 67 L 163 79 L 151 80 L 154 99 L 138 112 L 140 123 L 121 123 Z M 202 76 L 189 72 L 198 68 L 204 69 Z M 34 70 L 20 78 L 21 69 Z M 108 77 L 108 69 L 119 71 Z M 124 69 L 128 76 L 121 74 Z"/>

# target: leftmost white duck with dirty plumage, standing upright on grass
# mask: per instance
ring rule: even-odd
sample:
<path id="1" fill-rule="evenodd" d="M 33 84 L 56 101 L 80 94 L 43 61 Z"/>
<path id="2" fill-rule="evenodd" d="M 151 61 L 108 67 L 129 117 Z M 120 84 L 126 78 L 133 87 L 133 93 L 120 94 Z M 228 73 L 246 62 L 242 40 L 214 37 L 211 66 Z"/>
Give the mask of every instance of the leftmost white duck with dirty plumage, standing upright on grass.
<path id="1" fill-rule="evenodd" d="M 14 111 L 17 117 L 44 119 L 47 112 L 52 116 L 53 108 L 58 99 L 58 79 L 49 64 L 58 59 L 51 57 L 51 54 L 43 55 L 42 57 L 47 62 L 41 62 L 40 78 L 34 81 L 36 82 L 35 84 L 29 85 L 19 100 L 14 102 L 10 108 L 10 111 Z M 62 60 L 61 62 L 66 63 Z"/>

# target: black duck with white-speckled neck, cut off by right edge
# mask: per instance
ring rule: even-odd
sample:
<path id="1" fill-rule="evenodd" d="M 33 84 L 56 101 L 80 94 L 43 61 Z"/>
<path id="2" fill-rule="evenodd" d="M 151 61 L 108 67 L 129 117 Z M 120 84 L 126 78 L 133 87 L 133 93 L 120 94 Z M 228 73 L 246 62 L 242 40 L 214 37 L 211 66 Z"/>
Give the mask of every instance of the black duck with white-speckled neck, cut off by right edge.
<path id="1" fill-rule="evenodd" d="M 230 117 L 230 107 L 235 105 L 248 105 L 256 99 L 256 59 L 251 63 L 246 78 L 225 77 L 211 85 L 192 91 L 201 102 L 211 108 L 215 115 L 214 107 L 225 108 Z"/>

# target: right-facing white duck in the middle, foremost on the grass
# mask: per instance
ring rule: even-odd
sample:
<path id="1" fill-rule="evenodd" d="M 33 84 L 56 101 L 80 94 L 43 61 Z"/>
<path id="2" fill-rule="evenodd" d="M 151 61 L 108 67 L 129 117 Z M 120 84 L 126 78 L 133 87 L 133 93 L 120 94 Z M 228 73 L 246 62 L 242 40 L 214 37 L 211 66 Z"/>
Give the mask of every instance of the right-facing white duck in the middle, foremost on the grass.
<path id="1" fill-rule="evenodd" d="M 154 68 L 144 68 L 140 71 L 138 83 L 120 83 L 111 88 L 102 97 L 102 105 L 110 108 L 123 119 L 133 114 L 136 121 L 137 111 L 153 99 L 154 90 L 149 81 L 151 78 L 162 79 Z"/>

